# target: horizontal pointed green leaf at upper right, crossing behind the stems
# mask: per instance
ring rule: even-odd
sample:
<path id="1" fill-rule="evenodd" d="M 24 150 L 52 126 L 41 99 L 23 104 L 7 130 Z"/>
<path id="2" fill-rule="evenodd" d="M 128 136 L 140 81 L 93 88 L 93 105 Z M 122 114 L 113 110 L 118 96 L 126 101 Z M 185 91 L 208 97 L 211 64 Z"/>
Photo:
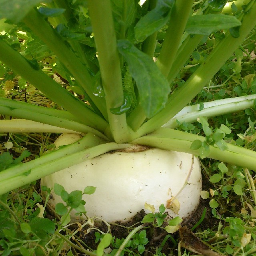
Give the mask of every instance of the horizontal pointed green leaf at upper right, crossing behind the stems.
<path id="1" fill-rule="evenodd" d="M 212 32 L 240 26 L 241 22 L 234 16 L 225 14 L 194 15 L 188 19 L 186 32 L 189 34 L 209 35 Z"/>

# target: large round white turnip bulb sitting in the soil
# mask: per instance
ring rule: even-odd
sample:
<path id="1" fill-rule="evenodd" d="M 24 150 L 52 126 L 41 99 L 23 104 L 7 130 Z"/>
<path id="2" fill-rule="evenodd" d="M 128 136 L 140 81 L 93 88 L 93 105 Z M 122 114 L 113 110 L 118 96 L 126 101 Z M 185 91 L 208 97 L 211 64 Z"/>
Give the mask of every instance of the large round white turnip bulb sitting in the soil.
<path id="1" fill-rule="evenodd" d="M 58 145 L 64 138 L 58 138 Z M 83 196 L 86 215 L 116 222 L 132 218 L 143 208 L 148 213 L 145 203 L 156 211 L 164 204 L 168 218 L 189 218 L 200 201 L 202 177 L 199 160 L 192 154 L 146 148 L 140 152 L 108 152 L 41 180 L 41 185 L 50 188 L 55 183 L 68 193 L 95 186 L 94 194 Z M 53 190 L 51 193 L 52 206 L 62 202 Z M 77 218 L 75 211 L 71 217 Z"/>

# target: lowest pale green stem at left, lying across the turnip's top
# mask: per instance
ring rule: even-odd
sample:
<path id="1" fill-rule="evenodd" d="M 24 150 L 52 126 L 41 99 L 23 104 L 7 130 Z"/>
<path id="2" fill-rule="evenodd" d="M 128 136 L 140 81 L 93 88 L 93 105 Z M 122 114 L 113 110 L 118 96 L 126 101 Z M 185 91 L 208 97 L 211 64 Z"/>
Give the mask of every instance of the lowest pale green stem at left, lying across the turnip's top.
<path id="1" fill-rule="evenodd" d="M 54 172 L 58 172 L 59 170 L 63 170 L 70 166 L 80 164 L 86 160 L 90 160 L 111 150 L 128 148 L 130 146 L 130 144 L 116 144 L 114 142 L 110 142 L 100 144 L 80 152 L 68 154 L 58 159 L 53 159 L 52 161 L 46 162 L 45 164 L 41 164 L 39 166 L 38 162 L 35 161 L 40 160 L 41 158 L 18 165 L 16 167 L 8 168 L 0 172 L 0 195 L 38 180 L 44 176 L 50 175 Z M 31 162 L 33 162 L 36 167 L 31 167 Z M 22 168 L 22 172 L 18 171 L 20 168 Z"/>

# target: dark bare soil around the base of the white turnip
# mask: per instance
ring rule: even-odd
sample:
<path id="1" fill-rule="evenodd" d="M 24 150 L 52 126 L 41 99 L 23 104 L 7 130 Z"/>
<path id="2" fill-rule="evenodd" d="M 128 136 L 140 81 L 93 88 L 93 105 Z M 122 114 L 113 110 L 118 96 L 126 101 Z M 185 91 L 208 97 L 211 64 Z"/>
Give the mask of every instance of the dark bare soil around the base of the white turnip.
<path id="1" fill-rule="evenodd" d="M 209 182 L 205 178 L 203 178 L 203 189 L 208 190 L 209 188 Z M 184 220 L 182 222 L 182 226 L 187 226 L 188 229 L 191 229 L 195 224 L 198 223 L 200 220 L 204 208 L 206 208 L 206 214 L 204 217 L 204 220 L 202 223 L 193 231 L 193 232 L 199 232 L 203 230 L 210 229 L 212 230 L 216 225 L 218 225 L 218 220 L 212 218 L 211 216 L 211 208 L 209 207 L 208 200 L 200 200 L 200 204 L 198 206 L 198 209 L 192 214 L 191 218 L 188 220 Z M 129 220 L 126 223 L 118 222 L 116 224 L 111 224 L 111 234 L 115 238 L 126 238 L 128 236 L 128 229 L 132 229 L 138 225 L 140 225 L 143 217 L 145 216 L 145 212 L 142 209 L 140 212 L 138 212 L 131 220 Z M 167 223 L 165 224 L 167 225 Z M 164 226 L 164 224 L 163 224 Z M 102 224 L 96 224 L 95 227 L 102 232 L 107 232 L 108 227 L 104 222 Z M 80 231 L 80 234 L 78 234 L 78 238 L 82 239 L 82 241 L 91 249 L 96 249 L 98 243 L 95 243 L 95 232 L 98 232 L 97 230 L 91 230 L 88 234 L 86 234 L 86 230 L 89 228 L 85 227 L 83 230 Z M 164 238 L 168 235 L 168 233 L 162 229 L 162 228 L 154 228 L 152 225 L 149 225 L 146 229 L 147 232 L 147 238 L 149 240 L 148 244 L 145 246 L 146 250 L 144 252 L 144 255 L 153 255 L 156 253 L 156 248 L 159 248 L 161 243 L 163 242 Z M 86 235 L 85 235 L 86 234 Z M 172 234 L 172 237 L 174 240 L 176 240 L 176 244 L 172 242 L 172 240 L 169 238 L 167 242 L 164 244 L 164 247 L 162 248 L 161 252 L 165 255 L 176 255 L 177 254 L 177 248 L 178 248 L 178 242 L 180 241 L 179 238 L 179 232 L 175 232 Z M 110 246 L 111 248 L 111 246 Z M 114 248 L 112 248 L 114 249 Z M 139 255 L 139 254 L 138 254 Z"/>

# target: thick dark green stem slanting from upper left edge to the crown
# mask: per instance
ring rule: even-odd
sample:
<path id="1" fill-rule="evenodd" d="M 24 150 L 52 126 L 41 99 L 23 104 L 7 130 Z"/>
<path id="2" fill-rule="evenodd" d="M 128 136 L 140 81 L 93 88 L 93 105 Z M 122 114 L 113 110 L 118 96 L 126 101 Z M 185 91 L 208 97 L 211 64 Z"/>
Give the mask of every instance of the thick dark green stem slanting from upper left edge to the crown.
<path id="1" fill-rule="evenodd" d="M 14 72 L 36 86 L 59 106 L 68 110 L 84 124 L 103 132 L 108 124 L 100 116 L 90 110 L 86 104 L 73 96 L 60 84 L 38 70 L 21 54 L 0 39 L 0 61 L 9 66 Z"/>

